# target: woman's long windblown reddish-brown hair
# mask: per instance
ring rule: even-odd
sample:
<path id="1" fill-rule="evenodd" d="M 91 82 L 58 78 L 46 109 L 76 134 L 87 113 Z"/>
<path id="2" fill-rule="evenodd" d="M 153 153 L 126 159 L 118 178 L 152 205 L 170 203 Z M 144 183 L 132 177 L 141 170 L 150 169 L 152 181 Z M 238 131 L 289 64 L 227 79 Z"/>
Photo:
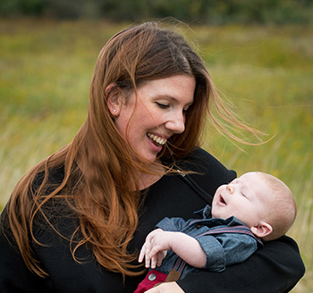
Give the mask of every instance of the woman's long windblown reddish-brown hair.
<path id="1" fill-rule="evenodd" d="M 34 235 L 36 219 L 59 232 L 50 222 L 45 207 L 61 198 L 79 218 L 77 229 L 69 239 L 74 259 L 79 261 L 75 256 L 77 248 L 88 245 L 106 270 L 121 272 L 123 277 L 139 273 L 131 264 L 136 255 L 130 254 L 127 246 L 138 225 L 140 205 L 134 171 L 144 171 L 145 164 L 134 160 L 134 154 L 125 148 L 125 139 L 114 127 L 114 118 L 106 104 L 106 88 L 114 84 L 122 91 L 136 92 L 144 80 L 174 74 L 195 77 L 196 90 L 186 116 L 185 131 L 168 140 L 162 157 L 179 159 L 199 146 L 207 113 L 223 129 L 212 116 L 211 106 L 224 120 L 245 128 L 224 108 L 205 64 L 181 35 L 160 28 L 157 22 L 146 22 L 117 33 L 98 55 L 90 83 L 88 117 L 72 143 L 30 170 L 14 188 L 6 207 L 13 238 L 30 271 L 47 276 L 30 243 L 38 242 Z M 49 180 L 49 173 L 57 168 L 63 168 L 64 177 L 55 185 Z M 43 175 L 37 186 L 34 181 L 38 181 L 39 173 Z"/>

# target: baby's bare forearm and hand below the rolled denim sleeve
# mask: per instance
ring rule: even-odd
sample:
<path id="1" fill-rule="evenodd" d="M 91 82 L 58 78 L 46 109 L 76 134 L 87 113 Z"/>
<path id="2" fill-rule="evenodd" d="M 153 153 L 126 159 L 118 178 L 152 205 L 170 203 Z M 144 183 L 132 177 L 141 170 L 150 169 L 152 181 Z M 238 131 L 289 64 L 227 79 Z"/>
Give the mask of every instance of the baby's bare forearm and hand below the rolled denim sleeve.
<path id="1" fill-rule="evenodd" d="M 207 263 L 207 255 L 202 250 L 199 242 L 182 232 L 170 232 L 157 229 L 150 232 L 146 242 L 140 250 L 139 262 L 145 257 L 146 267 L 151 263 L 151 268 L 162 264 L 167 250 L 172 249 L 187 264 L 202 269 Z"/>

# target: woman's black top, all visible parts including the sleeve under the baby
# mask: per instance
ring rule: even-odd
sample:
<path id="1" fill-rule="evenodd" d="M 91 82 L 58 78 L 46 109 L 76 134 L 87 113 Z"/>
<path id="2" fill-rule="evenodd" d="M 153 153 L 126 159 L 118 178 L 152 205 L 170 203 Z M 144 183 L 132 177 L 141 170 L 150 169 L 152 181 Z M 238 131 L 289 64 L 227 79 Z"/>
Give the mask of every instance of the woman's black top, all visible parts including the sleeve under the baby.
<path id="1" fill-rule="evenodd" d="M 182 163 L 182 169 L 201 172 L 189 175 L 197 185 L 211 196 L 216 188 L 236 177 L 236 173 L 227 170 L 213 156 L 199 149 Z M 55 180 L 61 180 L 63 173 L 55 174 Z M 130 244 L 130 251 L 140 250 L 148 232 L 154 225 L 167 217 L 182 217 L 185 220 L 195 218 L 194 211 L 207 205 L 209 198 L 203 198 L 205 192 L 192 187 L 190 180 L 180 175 L 164 176 L 148 188 L 148 194 L 140 211 L 140 224 Z M 205 197 L 205 196 L 204 196 Z M 58 229 L 70 236 L 74 229 L 71 216 L 64 216 L 62 207 L 55 211 Z M 62 217 L 57 217 L 57 215 Z M 3 213 L 2 221 L 5 220 Z M 47 279 L 32 274 L 22 261 L 21 255 L 9 245 L 4 234 L 0 234 L 0 292 L 66 292 L 66 293 L 131 293 L 144 278 L 127 277 L 123 284 L 118 273 L 107 272 L 100 267 L 91 250 L 80 248 L 78 255 L 81 263 L 72 259 L 68 241 L 59 238 L 49 229 L 36 232 L 38 240 L 47 247 L 30 244 L 43 268 L 49 273 Z M 190 273 L 178 284 L 186 293 L 194 292 L 288 292 L 304 274 L 304 265 L 296 243 L 288 238 L 266 242 L 246 262 L 234 264 L 224 272 Z"/>

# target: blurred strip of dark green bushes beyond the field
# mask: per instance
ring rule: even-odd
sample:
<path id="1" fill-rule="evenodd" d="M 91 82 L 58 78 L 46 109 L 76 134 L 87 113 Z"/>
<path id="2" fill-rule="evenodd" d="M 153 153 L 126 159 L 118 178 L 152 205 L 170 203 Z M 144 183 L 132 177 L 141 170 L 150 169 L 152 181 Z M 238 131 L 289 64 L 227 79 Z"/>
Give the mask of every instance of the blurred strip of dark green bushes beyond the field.
<path id="1" fill-rule="evenodd" d="M 202 23 L 312 23 L 312 0 L 2 0 L 0 15 L 138 21 L 171 16 Z"/>

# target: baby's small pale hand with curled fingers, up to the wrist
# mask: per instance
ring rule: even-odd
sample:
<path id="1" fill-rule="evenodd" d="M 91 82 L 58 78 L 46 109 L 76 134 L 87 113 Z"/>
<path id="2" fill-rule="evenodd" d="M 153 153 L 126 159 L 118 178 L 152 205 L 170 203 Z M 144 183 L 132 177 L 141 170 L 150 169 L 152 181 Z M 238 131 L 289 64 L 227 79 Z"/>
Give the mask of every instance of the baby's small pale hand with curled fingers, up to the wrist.
<path id="1" fill-rule="evenodd" d="M 146 242 L 141 247 L 139 262 L 145 258 L 145 266 L 155 269 L 156 266 L 160 266 L 164 260 L 167 250 L 170 247 L 170 232 L 165 232 L 162 229 L 153 230 L 146 238 Z M 151 263 L 151 264 L 150 264 Z"/>

